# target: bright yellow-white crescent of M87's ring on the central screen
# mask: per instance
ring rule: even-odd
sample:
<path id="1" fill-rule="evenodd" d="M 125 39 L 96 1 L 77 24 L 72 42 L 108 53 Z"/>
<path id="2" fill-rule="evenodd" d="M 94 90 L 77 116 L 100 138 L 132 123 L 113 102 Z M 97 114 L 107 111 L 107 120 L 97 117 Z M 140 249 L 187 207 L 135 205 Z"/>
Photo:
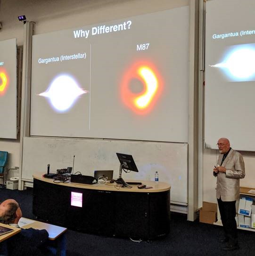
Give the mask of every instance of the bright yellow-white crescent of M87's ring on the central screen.
<path id="1" fill-rule="evenodd" d="M 142 96 L 137 97 L 134 100 L 134 102 L 138 108 L 143 109 L 143 108 L 146 108 L 148 104 L 151 102 L 154 94 L 156 93 L 158 83 L 152 70 L 148 67 L 139 68 L 138 74 L 145 81 L 146 92 Z"/>

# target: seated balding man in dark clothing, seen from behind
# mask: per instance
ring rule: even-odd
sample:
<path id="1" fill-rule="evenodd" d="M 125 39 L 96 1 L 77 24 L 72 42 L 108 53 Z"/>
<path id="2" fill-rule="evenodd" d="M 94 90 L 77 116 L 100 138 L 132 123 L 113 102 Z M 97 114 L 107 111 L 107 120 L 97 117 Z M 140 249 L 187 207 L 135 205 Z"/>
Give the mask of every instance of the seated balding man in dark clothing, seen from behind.
<path id="1" fill-rule="evenodd" d="M 7 199 L 0 204 L 0 223 L 18 226 L 22 211 L 14 199 Z M 21 255 L 51 255 L 45 252 L 49 234 L 47 230 L 33 228 L 22 229 L 20 233 L 7 240 L 8 254 Z"/>

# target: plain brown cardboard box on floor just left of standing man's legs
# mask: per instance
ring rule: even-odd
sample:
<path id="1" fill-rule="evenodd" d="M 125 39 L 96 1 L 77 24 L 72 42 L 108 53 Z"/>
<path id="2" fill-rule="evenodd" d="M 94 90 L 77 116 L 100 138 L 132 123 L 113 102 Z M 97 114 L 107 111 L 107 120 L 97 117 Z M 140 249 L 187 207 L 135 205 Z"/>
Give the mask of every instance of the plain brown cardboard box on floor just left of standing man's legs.
<path id="1" fill-rule="evenodd" d="M 203 202 L 199 211 L 199 222 L 213 224 L 217 221 L 217 204 Z"/>

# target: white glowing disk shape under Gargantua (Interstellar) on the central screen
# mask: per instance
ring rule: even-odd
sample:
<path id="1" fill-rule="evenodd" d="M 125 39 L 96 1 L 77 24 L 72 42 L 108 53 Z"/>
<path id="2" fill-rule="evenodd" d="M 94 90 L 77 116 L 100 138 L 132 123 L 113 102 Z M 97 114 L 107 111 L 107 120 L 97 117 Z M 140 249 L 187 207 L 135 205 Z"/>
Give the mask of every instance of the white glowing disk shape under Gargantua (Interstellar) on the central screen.
<path id="1" fill-rule="evenodd" d="M 81 94 L 88 91 L 82 90 L 73 77 L 60 75 L 49 85 L 47 91 L 39 94 L 49 98 L 49 101 L 56 111 L 64 112 L 71 108 Z"/>

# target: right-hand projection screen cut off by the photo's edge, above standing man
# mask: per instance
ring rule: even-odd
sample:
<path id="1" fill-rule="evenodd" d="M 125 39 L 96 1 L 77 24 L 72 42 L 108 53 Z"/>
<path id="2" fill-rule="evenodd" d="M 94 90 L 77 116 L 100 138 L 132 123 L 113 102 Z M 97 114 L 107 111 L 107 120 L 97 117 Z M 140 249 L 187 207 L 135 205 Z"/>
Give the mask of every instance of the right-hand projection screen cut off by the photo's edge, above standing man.
<path id="1" fill-rule="evenodd" d="M 255 151 L 255 1 L 206 2 L 205 142 Z"/>

